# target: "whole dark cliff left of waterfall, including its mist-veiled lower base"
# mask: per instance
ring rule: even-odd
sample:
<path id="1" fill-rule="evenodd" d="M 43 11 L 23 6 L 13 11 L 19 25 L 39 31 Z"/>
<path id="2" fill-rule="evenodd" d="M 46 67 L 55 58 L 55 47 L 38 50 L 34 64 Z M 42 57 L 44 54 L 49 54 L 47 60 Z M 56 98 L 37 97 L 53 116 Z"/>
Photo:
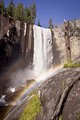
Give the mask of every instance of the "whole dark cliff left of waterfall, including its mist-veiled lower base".
<path id="1" fill-rule="evenodd" d="M 33 60 L 32 25 L 0 16 L 0 96 L 12 86 L 11 75 Z"/>

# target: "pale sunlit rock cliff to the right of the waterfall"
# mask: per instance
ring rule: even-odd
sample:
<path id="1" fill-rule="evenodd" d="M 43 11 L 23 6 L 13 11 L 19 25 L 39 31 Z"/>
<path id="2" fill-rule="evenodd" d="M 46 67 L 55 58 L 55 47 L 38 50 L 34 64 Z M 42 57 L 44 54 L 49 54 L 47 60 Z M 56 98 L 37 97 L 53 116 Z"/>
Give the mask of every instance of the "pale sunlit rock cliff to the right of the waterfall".
<path id="1" fill-rule="evenodd" d="M 74 61 L 80 57 L 80 19 L 66 21 L 53 29 L 53 50 L 55 64 L 65 63 L 69 58 Z"/>

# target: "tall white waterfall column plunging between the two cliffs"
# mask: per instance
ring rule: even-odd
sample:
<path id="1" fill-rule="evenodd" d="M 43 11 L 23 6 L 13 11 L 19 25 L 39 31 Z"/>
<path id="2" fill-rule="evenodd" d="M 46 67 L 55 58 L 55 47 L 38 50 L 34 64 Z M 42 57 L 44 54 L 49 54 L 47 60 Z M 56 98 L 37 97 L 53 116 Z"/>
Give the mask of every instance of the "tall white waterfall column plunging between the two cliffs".
<path id="1" fill-rule="evenodd" d="M 53 61 L 51 30 L 33 26 L 34 31 L 34 71 L 41 73 L 51 67 Z"/>

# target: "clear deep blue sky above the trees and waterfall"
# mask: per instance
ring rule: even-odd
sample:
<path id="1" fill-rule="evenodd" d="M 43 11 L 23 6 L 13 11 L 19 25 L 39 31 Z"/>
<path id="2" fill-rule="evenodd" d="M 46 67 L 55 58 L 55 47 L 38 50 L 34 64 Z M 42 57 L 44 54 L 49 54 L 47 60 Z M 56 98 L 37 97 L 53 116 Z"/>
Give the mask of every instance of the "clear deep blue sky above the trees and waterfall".
<path id="1" fill-rule="evenodd" d="M 5 4 L 9 0 L 5 0 Z M 40 19 L 42 26 L 47 27 L 52 18 L 54 24 L 63 23 L 64 19 L 80 18 L 80 0 L 14 0 L 15 3 L 22 2 L 25 6 L 36 3 L 36 24 Z"/>

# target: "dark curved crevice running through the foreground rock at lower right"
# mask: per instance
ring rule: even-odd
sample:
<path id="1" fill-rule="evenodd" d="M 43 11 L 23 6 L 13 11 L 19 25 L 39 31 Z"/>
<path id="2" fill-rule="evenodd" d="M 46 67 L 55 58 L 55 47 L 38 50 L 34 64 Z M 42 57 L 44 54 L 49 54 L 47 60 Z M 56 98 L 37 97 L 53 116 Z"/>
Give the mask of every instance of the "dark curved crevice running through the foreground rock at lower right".
<path id="1" fill-rule="evenodd" d="M 72 78 L 73 79 L 73 82 L 71 82 L 63 91 L 62 95 L 61 95 L 61 98 L 56 106 L 56 109 L 54 111 L 54 114 L 53 114 L 53 118 L 52 120 L 59 120 L 59 116 L 62 114 L 63 112 L 63 109 L 64 109 L 64 105 L 66 103 L 66 100 L 68 98 L 68 95 L 71 91 L 71 89 L 74 87 L 75 84 L 77 84 L 77 82 L 80 81 L 80 75 L 77 76 L 77 77 L 74 77 Z"/>

